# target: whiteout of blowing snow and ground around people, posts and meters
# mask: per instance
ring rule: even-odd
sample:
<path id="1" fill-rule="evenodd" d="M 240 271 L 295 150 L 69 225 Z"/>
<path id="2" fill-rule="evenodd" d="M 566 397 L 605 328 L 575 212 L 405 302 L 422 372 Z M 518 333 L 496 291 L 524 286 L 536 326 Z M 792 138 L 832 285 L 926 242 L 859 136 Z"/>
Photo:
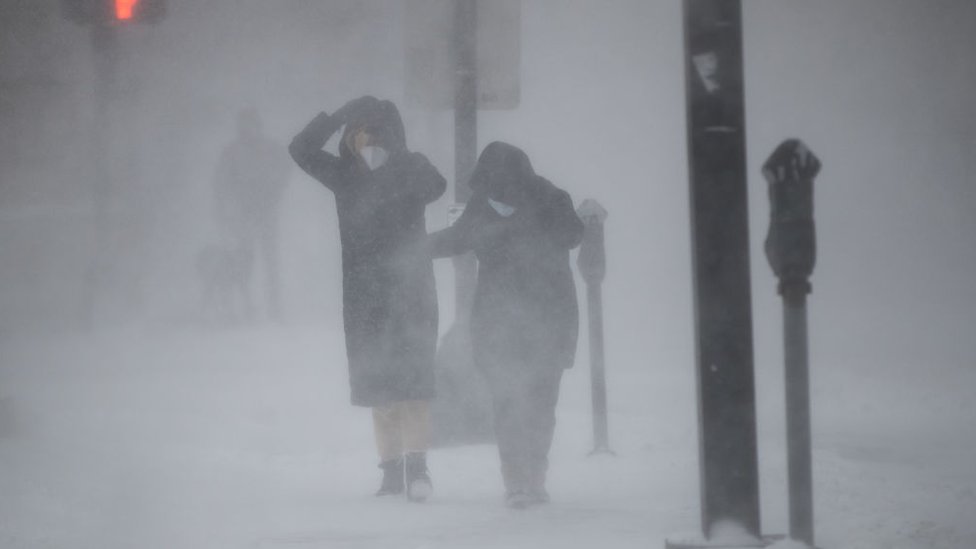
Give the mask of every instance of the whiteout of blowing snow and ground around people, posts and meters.
<path id="1" fill-rule="evenodd" d="M 484 445 L 432 451 L 426 508 L 367 498 L 375 452 L 348 403 L 334 198 L 297 167 L 279 209 L 280 319 L 261 269 L 253 319 L 206 310 L 197 258 L 220 239 L 214 178 L 242 109 L 284 152 L 320 111 L 393 101 L 407 147 L 448 180 L 428 229 L 447 225 L 453 113 L 408 97 L 407 5 L 170 0 L 158 24 L 118 29 L 103 116 L 91 30 L 55 0 L 0 0 L 0 546 L 644 547 L 698 527 L 677 0 L 525 0 L 518 107 L 479 113 L 479 151 L 517 145 L 577 206 L 609 212 L 618 455 L 585 457 L 581 307 L 544 512 L 504 512 Z M 744 2 L 764 531 L 787 521 L 760 167 L 797 137 L 823 162 L 809 296 L 818 545 L 976 545 L 974 25 L 966 0 Z M 435 275 L 444 333 L 451 263 Z"/>

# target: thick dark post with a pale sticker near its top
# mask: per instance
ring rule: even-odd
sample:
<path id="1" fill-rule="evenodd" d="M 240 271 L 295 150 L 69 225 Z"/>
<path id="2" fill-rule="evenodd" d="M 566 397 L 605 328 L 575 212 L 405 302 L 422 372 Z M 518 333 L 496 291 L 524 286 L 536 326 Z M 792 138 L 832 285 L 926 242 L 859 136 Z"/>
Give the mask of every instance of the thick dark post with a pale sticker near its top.
<path id="1" fill-rule="evenodd" d="M 739 0 L 685 0 L 702 532 L 760 538 Z"/>

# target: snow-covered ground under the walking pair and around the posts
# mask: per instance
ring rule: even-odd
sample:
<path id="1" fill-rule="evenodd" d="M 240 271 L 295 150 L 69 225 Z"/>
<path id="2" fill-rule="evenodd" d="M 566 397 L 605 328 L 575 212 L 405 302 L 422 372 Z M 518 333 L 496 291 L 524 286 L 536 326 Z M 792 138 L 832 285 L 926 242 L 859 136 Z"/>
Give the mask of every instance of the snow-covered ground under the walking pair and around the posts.
<path id="1" fill-rule="evenodd" d="M 514 511 L 490 445 L 432 451 L 425 505 L 373 497 L 370 417 L 324 328 L 8 337 L 0 547 L 663 547 L 699 526 L 691 359 L 610 358 L 617 455 L 587 455 L 583 361 L 564 378 L 553 503 Z M 818 545 L 976 547 L 973 365 L 815 369 Z M 760 395 L 777 384 L 760 375 Z M 783 533 L 781 409 L 759 411 L 763 529 Z"/>

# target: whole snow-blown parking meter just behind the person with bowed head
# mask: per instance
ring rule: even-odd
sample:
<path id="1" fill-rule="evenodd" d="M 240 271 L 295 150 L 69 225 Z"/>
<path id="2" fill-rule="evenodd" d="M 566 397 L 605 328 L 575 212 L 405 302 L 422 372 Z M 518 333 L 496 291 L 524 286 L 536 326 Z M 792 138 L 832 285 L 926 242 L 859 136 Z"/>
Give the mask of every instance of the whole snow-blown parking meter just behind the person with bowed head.
<path id="1" fill-rule="evenodd" d="M 584 200 L 576 214 L 583 221 L 583 241 L 576 264 L 586 282 L 590 332 L 590 391 L 593 401 L 593 454 L 612 454 L 607 421 L 607 380 L 603 352 L 603 279 L 607 274 L 603 224 L 607 211 L 595 200 Z"/>

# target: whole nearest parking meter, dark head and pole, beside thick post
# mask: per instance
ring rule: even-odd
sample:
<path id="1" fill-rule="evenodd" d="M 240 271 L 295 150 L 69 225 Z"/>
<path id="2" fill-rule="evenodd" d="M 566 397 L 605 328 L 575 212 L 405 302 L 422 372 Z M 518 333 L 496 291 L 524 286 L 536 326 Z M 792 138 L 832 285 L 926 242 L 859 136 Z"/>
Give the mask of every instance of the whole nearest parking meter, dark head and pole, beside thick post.
<path id="1" fill-rule="evenodd" d="M 813 546 L 813 472 L 807 294 L 817 259 L 813 180 L 820 160 L 798 139 L 788 139 L 763 165 L 770 219 L 765 251 L 783 296 L 786 373 L 786 445 L 790 479 L 790 537 Z"/>

